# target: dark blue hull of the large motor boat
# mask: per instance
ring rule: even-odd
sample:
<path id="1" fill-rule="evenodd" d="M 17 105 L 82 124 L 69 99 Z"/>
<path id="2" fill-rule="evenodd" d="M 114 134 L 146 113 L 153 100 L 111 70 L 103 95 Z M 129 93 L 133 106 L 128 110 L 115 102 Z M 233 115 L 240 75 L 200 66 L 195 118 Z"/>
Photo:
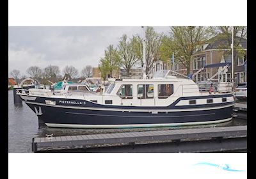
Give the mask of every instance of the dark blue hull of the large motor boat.
<path id="1" fill-rule="evenodd" d="M 44 100 L 50 100 L 50 98 L 37 97 L 33 102 L 28 100 L 25 102 L 47 126 L 85 128 L 160 127 L 218 123 L 232 119 L 234 105 L 234 102 L 226 102 L 186 107 L 177 107 L 172 104 L 173 106 L 168 107 L 134 108 L 108 105 L 102 108 L 100 104 L 87 101 L 83 103 L 84 100 L 70 100 L 75 102 L 61 104 L 60 100 L 63 99 L 56 99 L 56 105 L 45 104 Z"/>

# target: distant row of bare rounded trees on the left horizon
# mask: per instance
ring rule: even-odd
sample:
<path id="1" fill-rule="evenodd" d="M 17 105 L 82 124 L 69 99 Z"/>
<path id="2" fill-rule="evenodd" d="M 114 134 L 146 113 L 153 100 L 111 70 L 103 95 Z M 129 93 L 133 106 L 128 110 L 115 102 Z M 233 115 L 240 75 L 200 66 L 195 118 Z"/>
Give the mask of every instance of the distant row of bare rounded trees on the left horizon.
<path id="1" fill-rule="evenodd" d="M 80 77 L 92 77 L 92 69 L 93 67 L 91 65 L 86 65 L 81 70 Z M 66 77 L 67 80 L 76 79 L 79 75 L 79 71 L 74 66 L 67 65 L 65 68 L 63 68 L 63 75 L 61 75 L 60 67 L 56 65 L 49 65 L 45 68 L 40 68 L 39 66 L 30 66 L 26 70 L 26 74 L 28 75 L 21 75 L 20 70 L 17 69 L 14 69 L 12 72 L 10 72 L 10 75 L 17 83 L 23 79 L 26 79 L 27 77 L 31 77 L 32 79 L 40 82 L 40 84 L 51 84 L 51 82 L 62 81 L 64 77 Z"/>

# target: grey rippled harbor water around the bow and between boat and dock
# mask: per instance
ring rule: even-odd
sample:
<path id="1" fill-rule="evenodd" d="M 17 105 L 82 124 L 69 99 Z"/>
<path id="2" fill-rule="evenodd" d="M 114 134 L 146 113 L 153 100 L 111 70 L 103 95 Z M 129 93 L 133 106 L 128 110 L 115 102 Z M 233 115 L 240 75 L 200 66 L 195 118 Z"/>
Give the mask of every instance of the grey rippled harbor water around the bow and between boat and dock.
<path id="1" fill-rule="evenodd" d="M 38 127 L 36 114 L 26 104 L 13 104 L 13 91 L 8 91 L 8 152 L 32 152 L 31 142 L 33 137 L 45 137 L 45 134 L 53 136 L 72 136 L 85 134 L 106 134 L 115 132 L 138 132 L 147 130 L 168 130 L 179 128 L 198 127 L 222 127 L 234 125 L 246 125 L 246 120 L 234 118 L 232 121 L 214 125 L 196 125 L 189 127 L 155 127 L 155 128 L 49 128 Z"/>

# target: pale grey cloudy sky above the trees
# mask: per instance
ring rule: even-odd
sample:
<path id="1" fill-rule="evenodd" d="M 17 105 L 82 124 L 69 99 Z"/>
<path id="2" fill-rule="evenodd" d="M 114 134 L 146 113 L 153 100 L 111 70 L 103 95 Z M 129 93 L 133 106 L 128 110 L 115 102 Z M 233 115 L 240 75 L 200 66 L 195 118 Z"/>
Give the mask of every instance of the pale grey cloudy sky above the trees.
<path id="1" fill-rule="evenodd" d="M 154 27 L 168 33 L 170 27 Z M 141 27 L 9 27 L 8 71 L 26 74 L 29 66 L 98 66 L 108 45 L 117 45 L 120 36 L 141 35 Z"/>

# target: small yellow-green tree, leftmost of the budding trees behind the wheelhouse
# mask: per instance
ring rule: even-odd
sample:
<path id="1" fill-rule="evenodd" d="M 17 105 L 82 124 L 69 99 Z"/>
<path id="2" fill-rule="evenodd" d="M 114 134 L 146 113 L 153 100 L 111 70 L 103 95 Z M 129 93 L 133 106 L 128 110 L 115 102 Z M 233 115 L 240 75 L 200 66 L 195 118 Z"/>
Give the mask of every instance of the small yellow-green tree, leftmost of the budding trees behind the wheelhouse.
<path id="1" fill-rule="evenodd" d="M 116 48 L 113 45 L 109 45 L 107 50 L 105 50 L 104 58 L 100 58 L 99 69 L 100 72 L 104 74 L 109 74 L 113 77 L 114 70 L 118 70 L 120 65 L 120 56 Z M 104 78 L 104 77 L 103 77 Z"/>

